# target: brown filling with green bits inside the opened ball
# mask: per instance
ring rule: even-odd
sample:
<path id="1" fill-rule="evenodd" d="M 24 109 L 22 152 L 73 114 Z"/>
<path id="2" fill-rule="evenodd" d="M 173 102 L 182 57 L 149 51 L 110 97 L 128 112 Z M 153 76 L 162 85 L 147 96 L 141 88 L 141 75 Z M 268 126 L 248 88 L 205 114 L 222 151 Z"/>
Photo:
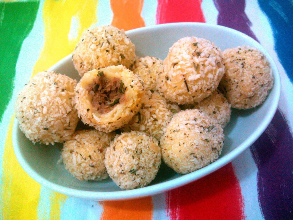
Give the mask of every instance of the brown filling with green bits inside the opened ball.
<path id="1" fill-rule="evenodd" d="M 119 78 L 108 79 L 99 75 L 93 80 L 88 92 L 93 96 L 92 106 L 98 113 L 110 112 L 115 105 L 125 101 L 124 83 Z"/>

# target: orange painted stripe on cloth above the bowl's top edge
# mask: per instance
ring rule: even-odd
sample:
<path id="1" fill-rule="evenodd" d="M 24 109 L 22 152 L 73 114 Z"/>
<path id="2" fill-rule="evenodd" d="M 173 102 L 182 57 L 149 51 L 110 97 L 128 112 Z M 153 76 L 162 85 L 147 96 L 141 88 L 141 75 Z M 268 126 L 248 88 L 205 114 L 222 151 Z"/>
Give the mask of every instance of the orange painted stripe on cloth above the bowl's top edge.
<path id="1" fill-rule="evenodd" d="M 128 31 L 145 26 L 142 13 L 143 0 L 110 0 L 113 20 L 111 25 Z"/>

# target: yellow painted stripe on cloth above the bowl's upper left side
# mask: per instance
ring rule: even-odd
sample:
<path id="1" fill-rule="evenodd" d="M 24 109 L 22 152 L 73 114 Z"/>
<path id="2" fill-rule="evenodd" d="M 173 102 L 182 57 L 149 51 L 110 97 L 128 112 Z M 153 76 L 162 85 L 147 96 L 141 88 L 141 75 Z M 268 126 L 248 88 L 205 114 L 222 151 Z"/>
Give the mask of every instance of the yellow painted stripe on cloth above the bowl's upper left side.
<path id="1" fill-rule="evenodd" d="M 70 54 L 78 42 L 81 33 L 97 22 L 98 1 L 92 0 L 46 0 L 43 7 L 44 48 L 33 68 L 32 77 L 47 70 L 57 61 Z M 74 37 L 70 37 L 77 22 Z"/>

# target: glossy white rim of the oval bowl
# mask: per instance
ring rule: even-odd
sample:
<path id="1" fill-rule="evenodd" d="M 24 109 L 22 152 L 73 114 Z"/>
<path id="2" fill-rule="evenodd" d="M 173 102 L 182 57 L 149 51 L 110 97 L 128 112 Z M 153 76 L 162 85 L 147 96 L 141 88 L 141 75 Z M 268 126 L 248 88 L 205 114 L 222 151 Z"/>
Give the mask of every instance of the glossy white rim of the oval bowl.
<path id="1" fill-rule="evenodd" d="M 58 185 L 56 183 L 52 183 L 48 180 L 46 180 L 44 177 L 40 176 L 37 172 L 35 172 L 31 167 L 25 162 L 25 159 L 21 156 L 21 151 L 19 150 L 18 143 L 16 141 L 15 135 L 17 134 L 17 131 L 19 129 L 18 121 L 14 120 L 13 122 L 13 149 L 16 155 L 16 158 L 18 162 L 20 163 L 21 167 L 25 170 L 25 172 L 30 175 L 35 181 L 40 183 L 41 185 L 52 189 L 53 191 L 65 194 L 67 196 L 72 197 L 79 197 L 79 198 L 86 198 L 86 199 L 93 199 L 93 200 L 99 200 L 99 201 L 106 201 L 106 200 L 123 200 L 123 199 L 134 199 L 134 198 L 141 198 L 141 197 L 147 197 L 147 196 L 153 196 L 155 194 L 163 193 L 168 190 L 186 185 L 190 182 L 193 182 L 195 180 L 198 180 L 205 175 L 208 175 L 211 172 L 214 172 L 215 170 L 223 167 L 227 163 L 234 160 L 237 156 L 239 156 L 244 150 L 246 150 L 250 145 L 253 144 L 254 141 L 257 140 L 257 138 L 265 131 L 265 129 L 268 127 L 270 121 L 272 120 L 273 116 L 275 115 L 275 112 L 277 111 L 277 106 L 280 100 L 280 93 L 281 93 L 281 80 L 280 80 L 280 74 L 277 68 L 277 65 L 275 64 L 274 60 L 270 56 L 270 54 L 263 48 L 262 45 L 260 45 L 257 41 L 255 41 L 253 38 L 249 37 L 248 35 L 241 33 L 239 31 L 236 31 L 231 28 L 227 28 L 220 25 L 213 25 L 213 24 L 207 24 L 207 23 L 197 23 L 197 22 L 180 22 L 180 23 L 167 23 L 167 24 L 159 24 L 159 25 L 151 25 L 146 26 L 142 28 L 136 28 L 130 31 L 126 31 L 125 33 L 127 35 L 131 35 L 132 33 L 137 32 L 145 32 L 149 30 L 157 30 L 162 28 L 172 28 L 172 27 L 209 27 L 209 28 L 216 28 L 218 30 L 224 30 L 229 31 L 237 35 L 241 35 L 241 37 L 246 38 L 246 40 L 253 42 L 254 44 L 258 45 L 258 49 L 267 57 L 274 76 L 274 85 L 273 88 L 275 90 L 274 92 L 274 99 L 272 101 L 272 105 L 270 106 L 270 111 L 268 112 L 265 119 L 258 125 L 258 127 L 253 131 L 253 133 L 240 145 L 238 145 L 235 149 L 233 149 L 231 152 L 227 153 L 226 155 L 222 156 L 215 162 L 209 164 L 206 167 L 203 167 L 199 170 L 196 170 L 194 172 L 191 172 L 186 175 L 182 175 L 180 177 L 177 177 L 172 180 L 168 180 L 166 182 L 157 183 L 155 185 L 146 186 L 143 188 L 138 189 L 131 189 L 131 190 L 121 190 L 121 191 L 112 191 L 112 192 L 95 192 L 95 191 L 86 191 L 86 190 L 80 190 L 80 189 L 71 189 L 69 187 L 64 187 L 61 185 Z M 66 57 L 64 57 L 62 60 L 58 61 L 56 64 L 54 64 L 52 67 L 49 68 L 49 70 L 55 70 L 57 67 L 59 67 L 64 62 L 68 62 L 71 60 L 72 55 L 69 54 Z"/>

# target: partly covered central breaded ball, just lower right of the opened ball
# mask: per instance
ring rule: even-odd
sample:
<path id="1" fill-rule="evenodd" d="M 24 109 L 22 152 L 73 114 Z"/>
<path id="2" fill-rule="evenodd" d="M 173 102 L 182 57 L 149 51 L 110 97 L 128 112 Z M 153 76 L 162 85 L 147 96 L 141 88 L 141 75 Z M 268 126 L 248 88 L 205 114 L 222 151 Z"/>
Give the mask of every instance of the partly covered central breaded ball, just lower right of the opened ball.
<path id="1" fill-rule="evenodd" d="M 172 110 L 176 111 L 176 110 Z M 122 127 L 122 131 L 144 131 L 150 136 L 160 140 L 165 127 L 170 121 L 173 113 L 168 109 L 167 101 L 158 92 L 147 94 L 142 98 L 142 107 L 136 116 Z"/>

